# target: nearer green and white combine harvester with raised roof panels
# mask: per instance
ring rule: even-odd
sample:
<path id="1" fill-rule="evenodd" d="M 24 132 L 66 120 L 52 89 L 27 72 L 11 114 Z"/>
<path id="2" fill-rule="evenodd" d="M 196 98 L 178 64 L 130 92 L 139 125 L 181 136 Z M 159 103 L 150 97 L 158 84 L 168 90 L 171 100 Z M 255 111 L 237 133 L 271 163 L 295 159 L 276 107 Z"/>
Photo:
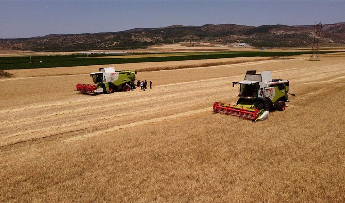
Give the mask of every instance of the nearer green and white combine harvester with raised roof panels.
<path id="1" fill-rule="evenodd" d="M 289 81 L 272 79 L 271 71 L 248 70 L 243 81 L 239 84 L 237 104 L 215 102 L 213 111 L 243 117 L 252 121 L 264 120 L 269 112 L 284 111 L 288 100 Z M 292 94 L 294 95 L 294 94 Z"/>

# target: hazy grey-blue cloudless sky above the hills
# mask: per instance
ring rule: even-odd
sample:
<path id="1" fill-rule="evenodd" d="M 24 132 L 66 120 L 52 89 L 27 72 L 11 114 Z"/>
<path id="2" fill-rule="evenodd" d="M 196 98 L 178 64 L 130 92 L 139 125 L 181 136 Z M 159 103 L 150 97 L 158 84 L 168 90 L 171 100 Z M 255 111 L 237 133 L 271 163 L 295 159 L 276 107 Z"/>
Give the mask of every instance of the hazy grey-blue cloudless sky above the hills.
<path id="1" fill-rule="evenodd" d="M 345 22 L 345 1 L 1 1 L 0 38 L 136 27 Z"/>

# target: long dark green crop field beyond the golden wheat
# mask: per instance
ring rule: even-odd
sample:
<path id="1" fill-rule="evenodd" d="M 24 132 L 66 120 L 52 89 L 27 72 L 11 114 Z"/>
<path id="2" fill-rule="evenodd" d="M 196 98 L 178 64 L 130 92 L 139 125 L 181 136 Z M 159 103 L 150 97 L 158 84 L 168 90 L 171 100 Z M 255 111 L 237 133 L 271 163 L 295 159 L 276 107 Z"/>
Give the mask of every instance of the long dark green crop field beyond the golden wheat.
<path id="1" fill-rule="evenodd" d="M 321 51 L 321 54 L 337 53 L 343 51 Z M 162 53 L 165 54 L 166 53 Z M 89 66 L 89 65 L 106 65 L 106 64 L 126 64 L 126 63 L 143 63 L 155 61 L 177 61 L 177 60 L 200 60 L 200 59 L 217 59 L 217 58 L 234 58 L 234 57 L 250 57 L 250 56 L 294 56 L 301 54 L 311 54 L 311 52 L 201 52 L 201 53 L 176 53 L 169 56 L 159 56 L 160 54 L 151 54 L 152 57 L 132 58 L 99 58 L 105 55 L 52 55 L 52 56 L 29 56 L 22 57 L 0 57 L 0 70 L 10 69 L 28 69 L 28 68 L 54 68 L 68 66 Z M 118 56 L 118 55 L 107 55 Z M 40 61 L 43 63 L 40 63 Z M 30 63 L 31 61 L 31 63 Z"/>

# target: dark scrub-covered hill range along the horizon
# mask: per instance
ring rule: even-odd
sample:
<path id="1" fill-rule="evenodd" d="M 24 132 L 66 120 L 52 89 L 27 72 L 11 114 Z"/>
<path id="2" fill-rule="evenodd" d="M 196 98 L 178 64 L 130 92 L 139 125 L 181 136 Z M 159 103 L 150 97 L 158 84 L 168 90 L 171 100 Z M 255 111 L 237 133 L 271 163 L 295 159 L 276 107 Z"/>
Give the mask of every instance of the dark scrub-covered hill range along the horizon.
<path id="1" fill-rule="evenodd" d="M 321 37 L 322 43 L 345 44 L 345 23 L 324 25 Z M 236 24 L 172 25 L 163 28 L 135 28 L 108 33 L 50 34 L 31 38 L 0 39 L 0 48 L 37 51 L 121 49 L 184 41 L 247 43 L 259 47 L 295 47 L 310 45 L 313 38 L 313 25 L 257 27 Z"/>

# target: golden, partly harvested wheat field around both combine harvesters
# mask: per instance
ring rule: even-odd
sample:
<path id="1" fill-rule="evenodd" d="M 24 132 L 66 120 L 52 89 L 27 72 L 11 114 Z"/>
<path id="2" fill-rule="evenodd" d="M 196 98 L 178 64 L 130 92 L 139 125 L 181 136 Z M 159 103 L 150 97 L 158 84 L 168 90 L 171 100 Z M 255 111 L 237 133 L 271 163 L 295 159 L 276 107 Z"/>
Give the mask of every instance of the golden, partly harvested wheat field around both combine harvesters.
<path id="1" fill-rule="evenodd" d="M 153 89 L 95 96 L 73 91 L 84 72 L 13 72 L 0 79 L 0 202 L 344 202 L 344 63 L 142 71 Z M 257 123 L 212 113 L 253 69 L 290 81 L 287 109 Z"/>

